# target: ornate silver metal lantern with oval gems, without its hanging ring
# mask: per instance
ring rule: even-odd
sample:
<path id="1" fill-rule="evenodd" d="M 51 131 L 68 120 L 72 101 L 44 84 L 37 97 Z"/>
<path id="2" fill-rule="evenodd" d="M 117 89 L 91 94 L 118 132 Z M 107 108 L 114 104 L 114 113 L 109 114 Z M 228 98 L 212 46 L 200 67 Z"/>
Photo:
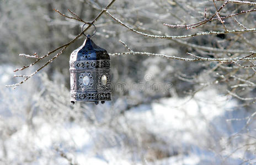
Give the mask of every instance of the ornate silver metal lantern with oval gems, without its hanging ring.
<path id="1" fill-rule="evenodd" d="M 71 103 L 111 100 L 110 58 L 106 50 L 87 37 L 70 56 Z"/>

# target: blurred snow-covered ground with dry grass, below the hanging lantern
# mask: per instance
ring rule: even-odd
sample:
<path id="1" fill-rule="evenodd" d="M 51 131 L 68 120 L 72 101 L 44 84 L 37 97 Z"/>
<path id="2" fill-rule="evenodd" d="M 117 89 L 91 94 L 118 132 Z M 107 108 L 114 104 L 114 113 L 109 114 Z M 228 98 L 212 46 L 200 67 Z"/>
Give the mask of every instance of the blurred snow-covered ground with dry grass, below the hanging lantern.
<path id="1" fill-rule="evenodd" d="M 255 145 L 246 146 L 255 142 L 246 138 L 247 135 L 255 137 L 253 124 L 243 129 L 247 124 L 243 118 L 250 116 L 250 113 L 236 108 L 235 100 L 218 95 L 214 89 L 198 92 L 194 98 L 162 98 L 150 105 L 134 107 L 114 118 L 105 119 L 103 115 L 85 122 L 86 116 L 80 116 L 71 122 L 63 119 L 66 113 L 62 111 L 74 112 L 67 110 L 68 106 L 67 109 L 55 107 L 60 109 L 59 116 L 55 112 L 49 116 L 40 111 L 28 113 L 28 109 L 36 109 L 33 105 L 39 104 L 36 103 L 39 95 L 29 88 L 31 84 L 16 90 L 6 89 L 3 85 L 12 83 L 9 79 L 12 69 L 5 67 L 5 72 L 0 69 L 0 162 L 175 165 L 256 163 L 253 155 Z M 95 113 L 113 112 L 114 108 L 115 103 L 106 103 L 98 106 Z M 47 111 L 49 109 L 46 108 Z M 245 135 L 244 131 L 249 133 Z M 129 147 L 129 144 L 133 145 Z M 156 159 L 155 155 L 164 155 L 159 154 L 159 150 L 169 155 Z M 252 160 L 246 162 L 249 159 Z"/>

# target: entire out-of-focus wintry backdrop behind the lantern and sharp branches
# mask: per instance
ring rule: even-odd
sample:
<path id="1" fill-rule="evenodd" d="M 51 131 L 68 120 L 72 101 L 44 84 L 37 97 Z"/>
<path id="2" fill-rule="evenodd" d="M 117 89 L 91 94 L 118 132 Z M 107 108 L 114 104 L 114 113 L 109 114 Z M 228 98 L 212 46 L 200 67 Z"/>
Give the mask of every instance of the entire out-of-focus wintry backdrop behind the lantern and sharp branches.
<path id="1" fill-rule="evenodd" d="M 227 89 L 238 80 L 222 79 L 223 75 L 236 75 L 253 81 L 252 69 L 244 71 L 215 62 L 114 56 L 112 101 L 71 106 L 68 61 L 85 39 L 81 37 L 17 89 L 4 86 L 22 80 L 13 78 L 13 70 L 33 62 L 19 53 L 44 55 L 81 31 L 81 23 L 62 18 L 54 8 L 67 15 L 71 9 L 90 21 L 100 12 L 93 6 L 105 7 L 109 2 L 0 0 L 0 164 L 255 164 L 255 102 L 228 95 Z M 218 7 L 222 4 L 216 1 Z M 109 12 L 138 31 L 184 35 L 196 30 L 170 29 L 163 23 L 196 23 L 204 19 L 205 8 L 208 15 L 216 12 L 212 1 L 185 0 L 116 1 Z M 253 8 L 230 4 L 222 14 Z M 237 19 L 252 28 L 255 18 L 249 13 Z M 239 26 L 233 19 L 225 23 Z M 135 51 L 179 57 L 188 57 L 186 52 L 237 57 L 236 50 L 242 54 L 255 48 L 254 33 L 177 42 L 134 34 L 107 15 L 95 25 L 93 40 L 108 53 L 127 51 L 119 40 Z M 210 30 L 222 31 L 223 26 L 213 21 L 199 29 Z M 243 38 L 250 42 L 240 41 Z M 234 51 L 210 52 L 193 45 Z M 36 67 L 22 74 L 30 74 Z M 255 97 L 254 85 L 237 90 L 243 97 Z"/>

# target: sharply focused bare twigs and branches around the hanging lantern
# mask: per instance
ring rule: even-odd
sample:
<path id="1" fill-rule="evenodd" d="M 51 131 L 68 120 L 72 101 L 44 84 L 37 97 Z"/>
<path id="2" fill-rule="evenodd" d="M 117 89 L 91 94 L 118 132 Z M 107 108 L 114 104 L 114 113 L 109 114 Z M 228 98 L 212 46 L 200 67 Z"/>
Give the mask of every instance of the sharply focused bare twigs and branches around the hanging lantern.
<path id="1" fill-rule="evenodd" d="M 113 19 L 116 23 L 120 24 L 121 26 L 126 27 L 126 29 L 135 32 L 135 34 L 137 35 L 141 35 L 141 36 L 145 36 L 148 38 L 161 38 L 161 39 L 167 39 L 167 40 L 172 40 L 176 43 L 194 48 L 196 50 L 200 50 L 201 52 L 209 52 L 209 53 L 224 53 L 228 54 L 228 53 L 238 53 L 238 57 L 236 55 L 236 57 L 230 57 L 230 58 L 220 58 L 220 57 L 201 57 L 200 55 L 195 55 L 195 53 L 190 53 L 187 52 L 187 54 L 189 56 L 191 56 L 191 58 L 186 58 L 186 57 L 178 57 L 178 56 L 172 56 L 172 55 L 168 55 L 168 54 L 159 54 L 159 53 L 150 53 L 150 52 L 140 52 L 140 51 L 132 51 L 129 47 L 127 47 L 127 45 L 120 41 L 122 43 L 122 45 L 124 45 L 127 50 L 129 52 L 123 52 L 123 53 L 110 53 L 110 56 L 120 56 L 120 55 L 129 55 L 129 54 L 134 54 L 134 55 L 147 55 L 147 56 L 154 56 L 154 57 L 163 57 L 163 58 L 168 58 L 168 59 L 175 59 L 175 60 L 179 60 L 179 61 L 186 61 L 186 62 L 220 62 L 220 63 L 227 63 L 227 64 L 233 64 L 236 65 L 238 68 L 250 68 L 252 69 L 255 74 L 256 74 L 256 70 L 254 69 L 255 65 L 252 63 L 252 61 L 255 61 L 256 57 L 253 57 L 255 53 L 249 54 L 249 50 L 240 50 L 240 49 L 228 49 L 228 48 L 215 48 L 215 47 L 209 47 L 209 46 L 200 46 L 200 45 L 195 45 L 193 43 L 189 43 L 188 41 L 182 41 L 182 40 L 177 40 L 177 39 L 182 39 L 182 38 L 193 38 L 193 37 L 197 37 L 197 36 L 209 36 L 209 35 L 227 35 L 227 34 L 235 34 L 235 35 L 239 35 L 241 36 L 241 38 L 244 40 L 245 43 L 247 43 L 248 45 L 252 45 L 250 43 L 249 40 L 247 40 L 246 37 L 243 36 L 243 34 L 248 33 L 248 32 L 255 32 L 256 28 L 248 28 L 245 25 L 243 25 L 243 23 L 241 23 L 240 21 L 238 21 L 235 17 L 237 17 L 238 15 L 242 15 L 242 14 L 248 14 L 248 13 L 252 13 L 252 12 L 256 12 L 256 9 L 250 9 L 250 10 L 242 10 L 239 13 L 232 13 L 232 14 L 227 14 L 227 15 L 221 15 L 220 12 L 226 7 L 226 5 L 228 3 L 236 3 L 236 4 L 249 4 L 249 5 L 254 5 L 253 2 L 247 2 L 247 1 L 225 1 L 223 4 L 221 4 L 220 8 L 217 8 L 217 5 L 215 3 L 215 1 L 218 0 L 212 0 L 214 7 L 216 9 L 216 12 L 214 12 L 213 14 L 211 14 L 210 18 L 207 19 L 207 9 L 204 8 L 204 11 L 202 11 L 202 13 L 204 13 L 204 20 L 199 21 L 198 23 L 195 24 L 186 24 L 186 25 L 170 25 L 170 24 L 163 24 L 165 26 L 168 27 L 184 27 L 186 29 L 192 29 L 192 28 L 196 28 L 199 27 L 201 25 L 205 25 L 207 23 L 210 23 L 213 20 L 218 20 L 220 21 L 220 23 L 222 24 L 222 26 L 224 27 L 223 31 L 200 31 L 200 32 L 195 32 L 193 34 L 188 34 L 188 35 L 162 35 L 163 32 L 157 32 L 158 34 L 156 35 L 156 31 L 152 31 L 152 30 L 148 30 L 149 32 L 146 32 L 146 30 L 139 31 L 136 30 L 134 27 L 126 24 L 124 21 L 121 21 L 119 18 L 116 18 L 113 14 L 111 14 L 109 12 L 109 7 L 115 2 L 115 0 L 111 1 L 104 9 L 100 9 L 97 4 L 97 2 L 93 3 L 92 7 L 94 9 L 100 10 L 101 12 L 97 15 L 97 17 L 94 18 L 94 20 L 92 21 L 92 23 L 94 23 L 95 21 L 97 21 L 98 18 L 100 18 L 102 16 L 103 13 L 105 13 L 106 15 L 108 15 L 111 19 Z M 82 23 L 88 23 L 84 20 L 82 20 L 76 13 L 72 12 L 71 10 L 68 9 L 68 12 L 72 15 L 72 16 L 68 16 L 66 14 L 61 13 L 59 10 L 54 9 L 55 12 L 57 12 L 58 14 L 60 14 L 61 16 L 67 18 L 67 19 L 74 19 L 76 21 L 82 22 Z M 209 12 L 210 13 L 210 12 Z M 225 19 L 228 18 L 233 18 L 233 21 L 235 21 L 239 26 L 242 27 L 242 29 L 233 29 L 233 30 L 228 30 L 227 26 L 225 24 Z M 83 32 L 87 31 L 89 29 L 89 27 L 91 26 L 91 24 L 88 24 L 87 28 L 83 30 Z M 68 46 L 70 46 L 74 41 L 76 41 L 79 37 L 82 36 L 83 32 L 81 32 L 80 34 L 78 34 L 77 36 L 75 36 L 70 42 L 67 42 L 66 44 L 57 47 L 55 50 L 48 52 L 47 54 L 45 54 L 44 56 L 38 56 L 38 54 L 34 54 L 33 55 L 29 55 L 29 54 L 19 54 L 19 56 L 22 57 L 26 57 L 26 58 L 35 58 L 36 60 L 29 64 L 29 65 L 25 65 L 22 68 L 18 68 L 16 70 L 14 70 L 14 72 L 18 72 L 20 70 L 24 70 L 26 68 L 29 68 L 33 65 L 35 65 L 36 63 L 38 63 L 39 61 L 41 61 L 42 59 L 45 59 L 48 56 L 51 56 L 52 54 L 56 53 L 55 56 L 51 57 L 49 61 L 47 61 L 44 65 L 42 65 L 39 69 L 36 69 L 35 72 L 31 73 L 30 75 L 14 75 L 15 78 L 17 77 L 22 77 L 25 78 L 24 80 L 20 81 L 17 84 L 12 84 L 12 85 L 6 85 L 7 87 L 17 87 L 23 83 L 25 83 L 25 81 L 27 81 L 28 79 L 30 79 L 31 77 L 33 77 L 36 73 L 38 73 L 41 69 L 45 68 L 47 65 L 49 65 L 52 61 L 55 60 L 55 58 L 57 58 L 58 56 L 60 56 L 63 51 L 66 50 L 66 48 Z M 243 55 L 245 54 L 245 55 Z M 244 64 L 245 62 L 249 62 L 251 64 Z M 241 85 L 238 85 L 241 86 Z M 237 87 L 238 87 L 237 86 Z M 242 85 L 243 86 L 243 85 Z"/>

